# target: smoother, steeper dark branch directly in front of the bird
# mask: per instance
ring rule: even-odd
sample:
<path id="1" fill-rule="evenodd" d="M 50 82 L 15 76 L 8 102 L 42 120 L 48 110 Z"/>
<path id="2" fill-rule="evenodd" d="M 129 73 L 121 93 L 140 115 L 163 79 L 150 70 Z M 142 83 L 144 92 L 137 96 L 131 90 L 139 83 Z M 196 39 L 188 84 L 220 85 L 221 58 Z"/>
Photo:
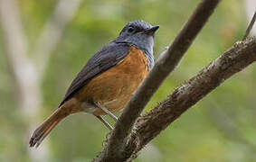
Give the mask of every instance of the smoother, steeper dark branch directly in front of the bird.
<path id="1" fill-rule="evenodd" d="M 202 0 L 194 14 L 190 17 L 184 28 L 180 31 L 172 45 L 157 60 L 155 67 L 150 71 L 145 81 L 139 86 L 137 92 L 127 104 L 119 117 L 116 127 L 111 131 L 107 147 L 94 161 L 125 161 L 131 156 L 134 148 L 126 148 L 127 137 L 132 125 L 137 120 L 151 96 L 172 72 L 185 51 L 190 47 L 196 35 L 201 31 L 208 18 L 213 14 L 214 8 L 220 0 Z M 128 151 L 129 150 L 129 151 Z"/>

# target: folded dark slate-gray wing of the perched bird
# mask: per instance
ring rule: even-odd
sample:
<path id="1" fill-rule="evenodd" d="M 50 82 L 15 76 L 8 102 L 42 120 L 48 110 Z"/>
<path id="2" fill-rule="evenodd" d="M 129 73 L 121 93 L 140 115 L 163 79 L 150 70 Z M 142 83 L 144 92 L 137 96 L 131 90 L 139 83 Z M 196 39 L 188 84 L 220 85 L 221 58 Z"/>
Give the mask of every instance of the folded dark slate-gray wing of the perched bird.
<path id="1" fill-rule="evenodd" d="M 128 49 L 129 45 L 127 43 L 111 42 L 95 53 L 72 81 L 59 107 L 69 100 L 73 94 L 78 92 L 81 87 L 86 85 L 92 78 L 118 64 L 120 60 L 128 55 Z"/>

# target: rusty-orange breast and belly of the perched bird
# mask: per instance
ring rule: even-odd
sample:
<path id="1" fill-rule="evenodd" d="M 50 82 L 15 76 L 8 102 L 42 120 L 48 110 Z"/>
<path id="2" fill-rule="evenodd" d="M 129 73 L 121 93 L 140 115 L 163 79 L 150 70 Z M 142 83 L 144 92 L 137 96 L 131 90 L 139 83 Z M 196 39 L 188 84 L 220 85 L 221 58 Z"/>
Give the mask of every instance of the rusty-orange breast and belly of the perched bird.
<path id="1" fill-rule="evenodd" d="M 131 95 L 147 74 L 147 57 L 141 50 L 131 46 L 126 58 L 100 76 L 91 79 L 75 97 L 81 103 L 100 102 L 110 112 L 117 112 L 128 103 Z M 83 109 L 95 115 L 106 114 L 99 108 L 90 106 L 85 106 Z M 92 111 L 86 109 L 92 109 Z"/>

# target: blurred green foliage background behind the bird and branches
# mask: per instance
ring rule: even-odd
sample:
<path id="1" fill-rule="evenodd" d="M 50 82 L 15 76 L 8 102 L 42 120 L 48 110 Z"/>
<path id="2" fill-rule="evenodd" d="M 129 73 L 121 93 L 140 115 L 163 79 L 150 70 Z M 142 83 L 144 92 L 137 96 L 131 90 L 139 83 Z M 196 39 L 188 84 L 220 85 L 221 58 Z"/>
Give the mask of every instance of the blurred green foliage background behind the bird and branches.
<path id="1" fill-rule="evenodd" d="M 155 58 L 158 58 L 159 53 L 175 39 L 199 2 L 81 1 L 78 11 L 67 23 L 61 39 L 52 50 L 49 63 L 40 78 L 38 96 L 42 103 L 36 109 L 37 112 L 31 110 L 33 116 L 24 115 L 21 109 L 17 81 L 6 52 L 5 30 L 1 26 L 0 161 L 90 161 L 100 152 L 101 142 L 109 131 L 92 115 L 81 113 L 70 116 L 37 149 L 28 148 L 30 135 L 57 108 L 72 78 L 87 60 L 116 38 L 126 23 L 142 19 L 160 25 L 154 48 Z M 57 0 L 17 1 L 28 42 L 28 58 L 33 58 L 34 45 L 57 4 Z M 145 112 L 231 47 L 236 40 L 241 40 L 247 23 L 243 1 L 223 1 L 175 72 L 147 104 Z M 54 38 L 50 35 L 48 39 Z M 30 79 L 33 78 L 28 77 Z M 136 161 L 256 161 L 255 82 L 255 66 L 233 76 L 157 136 Z M 29 91 L 29 87 L 27 89 Z"/>

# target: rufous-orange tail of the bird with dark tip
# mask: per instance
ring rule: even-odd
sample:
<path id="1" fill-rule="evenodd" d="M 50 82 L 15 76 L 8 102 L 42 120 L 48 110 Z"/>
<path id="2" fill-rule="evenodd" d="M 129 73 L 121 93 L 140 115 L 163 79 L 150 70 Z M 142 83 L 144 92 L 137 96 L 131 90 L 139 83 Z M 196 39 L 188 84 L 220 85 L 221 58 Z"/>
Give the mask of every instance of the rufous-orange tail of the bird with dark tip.
<path id="1" fill-rule="evenodd" d="M 53 112 L 49 118 L 43 121 L 43 123 L 33 131 L 33 135 L 29 141 L 30 147 L 35 146 L 35 148 L 37 148 L 51 130 L 68 115 L 69 113 L 63 110 L 62 107 L 59 107 Z"/>

